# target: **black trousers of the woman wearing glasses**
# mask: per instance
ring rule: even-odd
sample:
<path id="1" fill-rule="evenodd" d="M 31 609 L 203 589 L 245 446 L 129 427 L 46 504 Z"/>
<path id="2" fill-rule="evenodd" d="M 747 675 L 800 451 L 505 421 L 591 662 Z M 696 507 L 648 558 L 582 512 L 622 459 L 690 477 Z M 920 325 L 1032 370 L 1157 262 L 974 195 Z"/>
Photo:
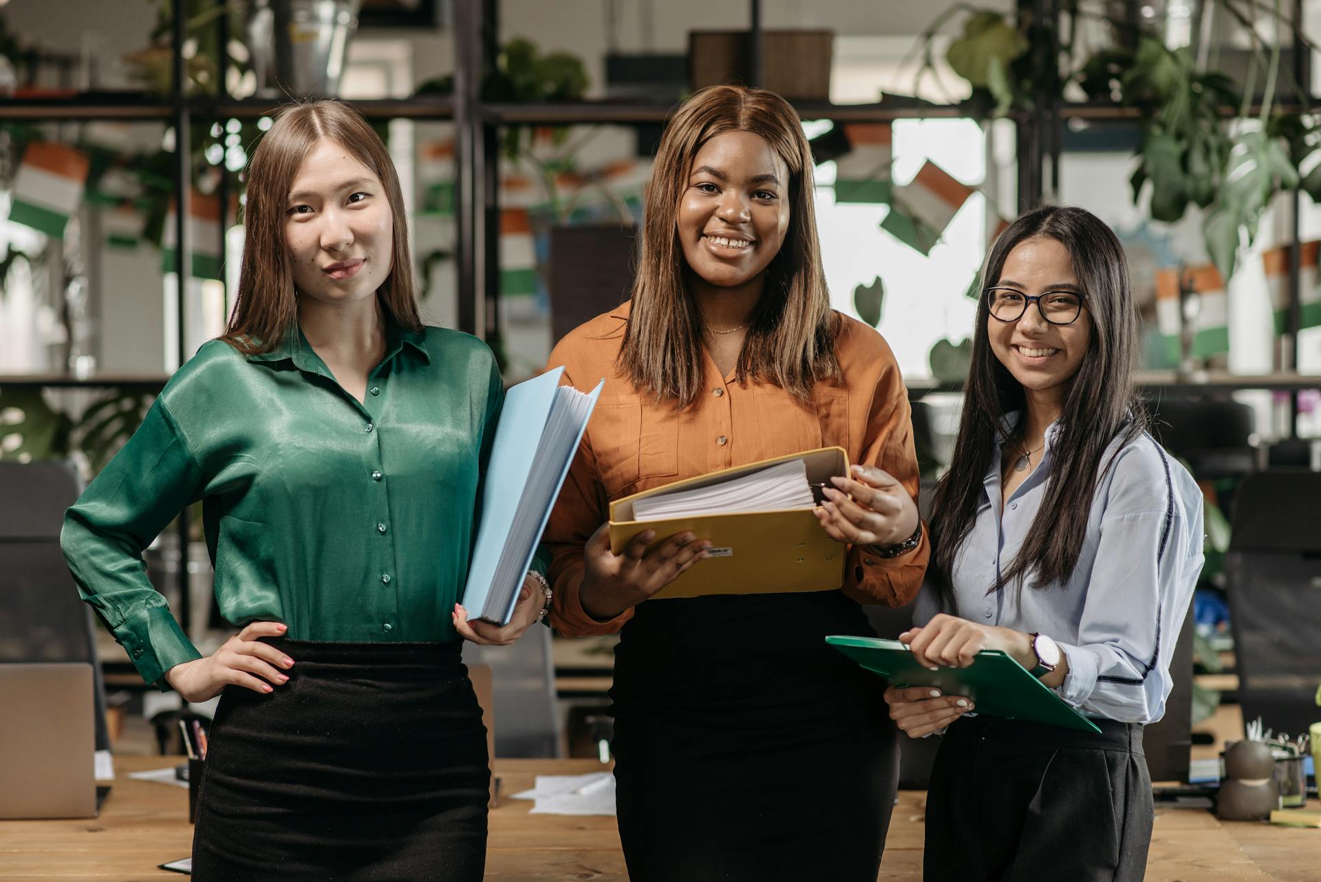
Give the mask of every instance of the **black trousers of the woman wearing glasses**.
<path id="1" fill-rule="evenodd" d="M 964 717 L 927 792 L 926 882 L 1140 882 L 1152 836 L 1143 726 L 1100 734 Z"/>

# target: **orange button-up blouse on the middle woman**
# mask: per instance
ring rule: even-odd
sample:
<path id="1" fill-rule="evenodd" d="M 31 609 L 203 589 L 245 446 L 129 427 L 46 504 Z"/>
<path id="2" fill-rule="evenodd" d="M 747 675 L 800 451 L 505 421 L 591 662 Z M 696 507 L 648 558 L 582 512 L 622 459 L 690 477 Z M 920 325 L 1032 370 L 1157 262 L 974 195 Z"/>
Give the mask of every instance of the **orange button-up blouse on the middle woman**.
<path id="1" fill-rule="evenodd" d="M 860 321 L 844 316 L 835 341 L 841 376 L 820 382 L 811 401 L 769 383 L 721 376 L 705 356 L 707 388 L 678 411 L 639 393 L 616 367 L 629 321 L 629 304 L 571 331 L 551 353 L 547 370 L 564 367 L 564 382 L 584 392 L 601 378 L 605 388 L 588 423 L 564 489 L 546 527 L 551 623 L 568 636 L 612 634 L 633 615 L 609 621 L 588 615 L 579 602 L 583 548 L 608 520 L 614 499 L 720 469 L 823 446 L 840 446 L 853 463 L 878 465 L 917 500 L 917 456 L 908 391 L 889 345 Z M 844 592 L 861 603 L 900 606 L 922 585 L 930 545 L 881 559 L 849 549 Z"/>

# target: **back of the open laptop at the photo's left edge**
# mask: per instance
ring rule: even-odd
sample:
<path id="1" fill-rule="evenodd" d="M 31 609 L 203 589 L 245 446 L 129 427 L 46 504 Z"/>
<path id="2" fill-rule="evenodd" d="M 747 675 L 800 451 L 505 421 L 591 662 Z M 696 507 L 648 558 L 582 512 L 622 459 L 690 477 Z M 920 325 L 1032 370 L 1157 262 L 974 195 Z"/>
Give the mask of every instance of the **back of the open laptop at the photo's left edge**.
<path id="1" fill-rule="evenodd" d="M 0 664 L 0 819 L 96 816 L 94 710 L 90 664 Z"/>

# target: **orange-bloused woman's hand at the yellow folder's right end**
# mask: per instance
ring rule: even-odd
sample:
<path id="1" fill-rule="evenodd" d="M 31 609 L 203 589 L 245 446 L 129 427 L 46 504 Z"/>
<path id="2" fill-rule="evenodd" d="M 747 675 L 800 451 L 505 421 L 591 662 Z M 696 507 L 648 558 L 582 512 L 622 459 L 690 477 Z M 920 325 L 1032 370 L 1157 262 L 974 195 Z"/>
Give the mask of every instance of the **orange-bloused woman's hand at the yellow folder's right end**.
<path id="1" fill-rule="evenodd" d="M 834 477 L 816 520 L 831 539 L 853 545 L 896 545 L 917 531 L 913 496 L 876 466 L 853 466 L 851 478 Z"/>

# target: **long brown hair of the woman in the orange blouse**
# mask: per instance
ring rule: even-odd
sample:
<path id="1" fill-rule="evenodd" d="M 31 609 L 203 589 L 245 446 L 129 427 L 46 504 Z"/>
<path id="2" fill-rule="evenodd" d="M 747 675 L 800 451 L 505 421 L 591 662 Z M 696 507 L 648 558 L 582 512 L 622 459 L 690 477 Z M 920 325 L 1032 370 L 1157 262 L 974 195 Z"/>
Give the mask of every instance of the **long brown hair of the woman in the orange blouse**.
<path id="1" fill-rule="evenodd" d="M 761 88 L 712 86 L 675 111 L 660 139 L 646 190 L 646 214 L 633 306 L 620 364 L 633 384 L 679 407 L 703 388 L 701 317 L 687 284 L 679 242 L 679 199 L 701 147 L 725 132 L 758 135 L 789 168 L 789 230 L 766 267 L 736 374 L 771 382 L 799 397 L 839 374 L 830 292 L 816 240 L 812 154 L 798 114 Z"/>

